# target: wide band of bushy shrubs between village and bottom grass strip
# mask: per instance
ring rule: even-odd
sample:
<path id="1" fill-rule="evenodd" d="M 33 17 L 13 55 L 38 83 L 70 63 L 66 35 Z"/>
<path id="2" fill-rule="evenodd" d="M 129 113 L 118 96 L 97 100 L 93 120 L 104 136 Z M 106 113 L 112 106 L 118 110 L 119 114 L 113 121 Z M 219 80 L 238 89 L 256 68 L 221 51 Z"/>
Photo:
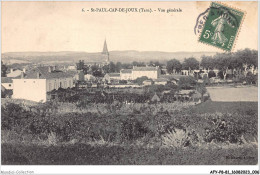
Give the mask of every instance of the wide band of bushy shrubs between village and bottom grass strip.
<path id="1" fill-rule="evenodd" d="M 189 112 L 185 109 L 189 105 L 185 107 L 180 103 L 128 106 L 115 101 L 107 106 L 110 110 L 102 108 L 105 112 L 79 110 L 58 113 L 54 104 L 38 105 L 30 111 L 21 105 L 7 103 L 2 105 L 2 130 L 33 135 L 45 141 L 55 135 L 53 140 L 56 143 L 73 139 L 116 143 L 142 140 L 144 137 L 146 140 L 160 139 L 163 135 L 174 134 L 176 130 L 186 132 L 189 138 L 187 145 L 199 142 L 200 136 L 205 142 L 230 143 L 242 143 L 242 135 L 247 140 L 257 137 L 257 109 L 233 114 L 198 114 Z"/>

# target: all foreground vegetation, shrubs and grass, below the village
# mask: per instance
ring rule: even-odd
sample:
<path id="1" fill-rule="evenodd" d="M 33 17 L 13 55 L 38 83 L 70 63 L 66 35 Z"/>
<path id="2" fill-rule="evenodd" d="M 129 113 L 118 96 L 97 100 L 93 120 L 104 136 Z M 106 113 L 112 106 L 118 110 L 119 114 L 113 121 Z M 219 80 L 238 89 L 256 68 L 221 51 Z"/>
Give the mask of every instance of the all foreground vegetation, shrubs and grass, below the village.
<path id="1" fill-rule="evenodd" d="M 257 103 L 2 103 L 2 164 L 256 164 Z M 44 154 L 42 154 L 44 153 Z"/>

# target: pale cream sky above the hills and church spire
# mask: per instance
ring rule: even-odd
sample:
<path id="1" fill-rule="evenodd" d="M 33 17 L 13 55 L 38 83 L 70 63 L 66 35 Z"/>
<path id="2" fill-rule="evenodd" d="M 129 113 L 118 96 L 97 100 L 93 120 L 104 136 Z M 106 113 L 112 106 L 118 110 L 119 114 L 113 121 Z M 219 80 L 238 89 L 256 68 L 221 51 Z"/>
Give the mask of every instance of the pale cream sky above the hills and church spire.
<path id="1" fill-rule="evenodd" d="M 258 49 L 257 2 L 225 2 L 246 12 L 234 51 Z M 198 42 L 194 26 L 210 2 L 2 2 L 2 53 L 108 50 L 220 52 Z M 82 12 L 84 8 L 85 12 Z M 152 13 L 87 12 L 151 8 Z M 182 12 L 162 13 L 162 9 Z"/>

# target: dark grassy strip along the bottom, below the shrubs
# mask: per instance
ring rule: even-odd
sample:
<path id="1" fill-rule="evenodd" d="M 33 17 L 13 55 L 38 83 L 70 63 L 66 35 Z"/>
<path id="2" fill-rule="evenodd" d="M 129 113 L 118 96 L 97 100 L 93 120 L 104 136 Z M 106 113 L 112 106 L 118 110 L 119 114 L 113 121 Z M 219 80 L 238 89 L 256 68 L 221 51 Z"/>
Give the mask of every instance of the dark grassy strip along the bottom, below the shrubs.
<path id="1" fill-rule="evenodd" d="M 26 165 L 254 165 L 256 146 L 233 148 L 143 148 L 71 144 L 2 144 L 2 164 Z"/>

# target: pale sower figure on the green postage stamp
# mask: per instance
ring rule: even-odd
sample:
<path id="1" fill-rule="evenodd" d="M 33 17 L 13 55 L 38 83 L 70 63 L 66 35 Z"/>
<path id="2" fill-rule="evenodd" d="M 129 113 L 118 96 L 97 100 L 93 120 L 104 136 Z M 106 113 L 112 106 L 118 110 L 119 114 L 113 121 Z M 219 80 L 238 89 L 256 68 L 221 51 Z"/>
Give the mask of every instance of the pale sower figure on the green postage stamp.
<path id="1" fill-rule="evenodd" d="M 228 41 L 228 39 L 226 38 L 226 36 L 224 35 L 224 29 L 226 24 L 228 24 L 230 27 L 234 28 L 234 25 L 232 25 L 229 22 L 230 16 L 228 15 L 228 12 L 224 12 L 221 16 L 219 16 L 218 18 L 216 18 L 215 20 L 213 20 L 211 22 L 211 25 L 213 27 L 216 27 L 214 34 L 212 36 L 212 40 L 213 43 L 219 43 L 222 44 L 222 46 L 225 45 L 225 43 Z"/>

